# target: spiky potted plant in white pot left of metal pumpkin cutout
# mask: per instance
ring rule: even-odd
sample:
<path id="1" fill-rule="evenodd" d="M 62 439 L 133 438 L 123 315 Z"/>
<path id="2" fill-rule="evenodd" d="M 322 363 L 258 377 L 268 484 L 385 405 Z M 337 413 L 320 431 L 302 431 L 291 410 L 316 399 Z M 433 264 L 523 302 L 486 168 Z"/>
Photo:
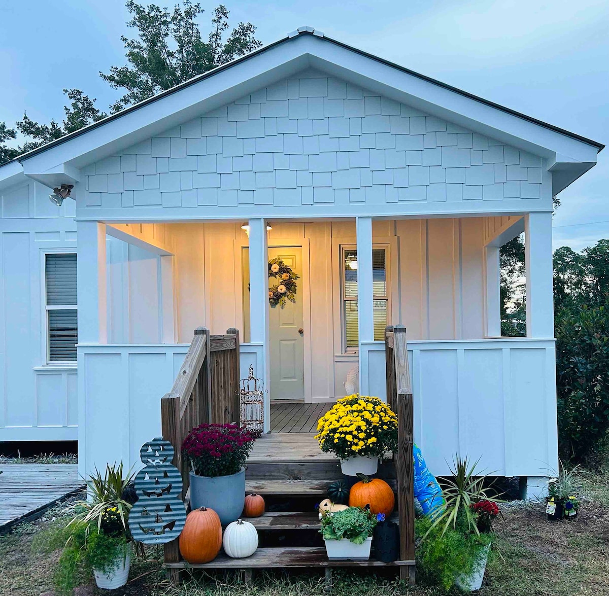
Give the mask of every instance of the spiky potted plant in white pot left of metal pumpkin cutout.
<path id="1" fill-rule="evenodd" d="M 55 572 L 60 594 L 71 594 L 83 574 L 93 574 L 97 587 L 116 589 L 127 583 L 132 537 L 127 521 L 133 501 L 132 475 L 122 462 L 108 464 L 86 481 L 88 499 L 74 504 L 74 516 L 62 529 L 63 551 Z"/>

